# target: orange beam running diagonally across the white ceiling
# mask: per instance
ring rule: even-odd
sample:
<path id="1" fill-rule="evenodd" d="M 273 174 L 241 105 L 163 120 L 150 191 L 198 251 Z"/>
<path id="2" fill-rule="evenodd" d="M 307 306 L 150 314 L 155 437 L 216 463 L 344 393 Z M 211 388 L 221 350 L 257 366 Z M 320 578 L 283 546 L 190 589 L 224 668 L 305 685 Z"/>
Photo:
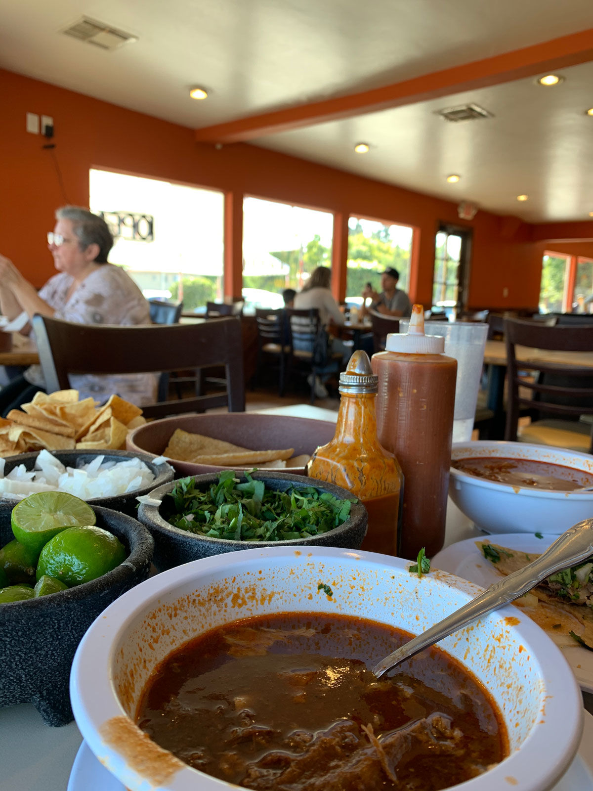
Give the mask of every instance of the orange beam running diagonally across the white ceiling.
<path id="1" fill-rule="evenodd" d="M 576 66 L 593 60 L 593 28 L 569 36 L 534 44 L 531 47 L 504 52 L 451 69 L 423 74 L 392 85 L 384 85 L 360 93 L 323 99 L 308 104 L 296 104 L 259 115 L 248 115 L 195 133 L 198 142 L 245 142 L 266 134 L 310 127 L 353 115 L 364 115 L 405 104 L 450 96 L 453 93 L 490 85 L 500 85 L 537 74 Z"/>

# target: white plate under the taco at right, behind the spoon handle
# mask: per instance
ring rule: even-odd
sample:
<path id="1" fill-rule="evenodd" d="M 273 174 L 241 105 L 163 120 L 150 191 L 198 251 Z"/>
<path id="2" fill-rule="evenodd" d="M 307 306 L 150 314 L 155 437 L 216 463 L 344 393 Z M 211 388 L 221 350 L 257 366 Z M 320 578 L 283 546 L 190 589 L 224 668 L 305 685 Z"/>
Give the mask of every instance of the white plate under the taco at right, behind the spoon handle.
<path id="1" fill-rule="evenodd" d="M 550 547 L 557 537 L 543 536 L 542 539 L 538 539 L 533 533 L 504 533 L 492 536 L 492 541 L 500 547 L 508 547 L 519 552 L 541 553 Z M 480 540 L 482 539 L 466 539 L 451 544 L 432 558 L 432 568 L 448 571 L 464 580 L 488 588 L 493 582 L 500 580 L 500 574 L 476 546 L 476 541 Z M 581 689 L 593 692 L 593 651 L 587 651 L 580 645 L 575 645 L 574 648 L 563 646 L 561 650 L 574 671 Z"/>

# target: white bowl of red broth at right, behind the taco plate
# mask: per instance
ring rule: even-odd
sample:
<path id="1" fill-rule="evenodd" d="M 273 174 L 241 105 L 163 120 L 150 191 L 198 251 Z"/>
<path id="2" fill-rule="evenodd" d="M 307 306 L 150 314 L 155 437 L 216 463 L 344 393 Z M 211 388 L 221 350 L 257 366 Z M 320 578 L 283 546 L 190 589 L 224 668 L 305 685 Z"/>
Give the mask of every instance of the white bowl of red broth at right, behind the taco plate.
<path id="1" fill-rule="evenodd" d="M 490 533 L 560 534 L 593 517 L 593 456 L 549 445 L 455 443 L 449 496 Z"/>

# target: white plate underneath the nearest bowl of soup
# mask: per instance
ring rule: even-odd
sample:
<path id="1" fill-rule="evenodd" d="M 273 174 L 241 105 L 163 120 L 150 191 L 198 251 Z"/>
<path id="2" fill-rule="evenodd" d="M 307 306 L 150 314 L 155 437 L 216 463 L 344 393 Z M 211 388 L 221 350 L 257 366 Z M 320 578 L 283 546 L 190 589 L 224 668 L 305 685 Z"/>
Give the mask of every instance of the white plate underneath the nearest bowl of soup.
<path id="1" fill-rule="evenodd" d="M 550 791 L 593 791 L 593 717 L 584 713 L 583 736 L 574 761 L 560 782 Z M 124 786 L 87 747 L 81 744 L 68 782 L 68 791 L 126 791 Z"/>

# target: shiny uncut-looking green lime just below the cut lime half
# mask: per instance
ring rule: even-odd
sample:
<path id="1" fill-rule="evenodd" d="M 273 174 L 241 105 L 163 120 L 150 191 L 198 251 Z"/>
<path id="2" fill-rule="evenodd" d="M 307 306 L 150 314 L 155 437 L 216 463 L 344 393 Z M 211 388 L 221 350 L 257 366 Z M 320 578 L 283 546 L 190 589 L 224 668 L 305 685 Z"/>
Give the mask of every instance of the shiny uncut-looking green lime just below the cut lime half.
<path id="1" fill-rule="evenodd" d="M 94 526 L 66 528 L 47 542 L 37 563 L 37 580 L 44 574 L 71 588 L 101 577 L 126 558 L 123 543 Z"/>

